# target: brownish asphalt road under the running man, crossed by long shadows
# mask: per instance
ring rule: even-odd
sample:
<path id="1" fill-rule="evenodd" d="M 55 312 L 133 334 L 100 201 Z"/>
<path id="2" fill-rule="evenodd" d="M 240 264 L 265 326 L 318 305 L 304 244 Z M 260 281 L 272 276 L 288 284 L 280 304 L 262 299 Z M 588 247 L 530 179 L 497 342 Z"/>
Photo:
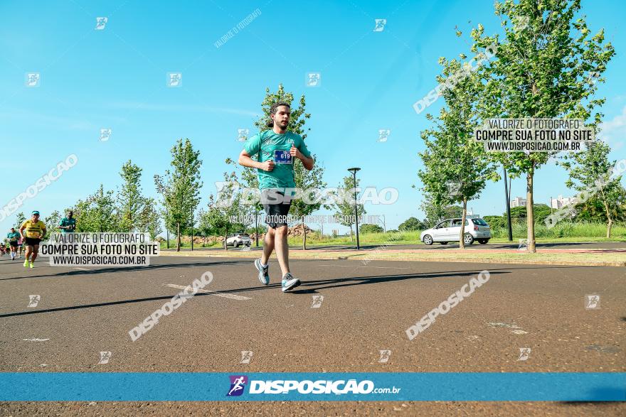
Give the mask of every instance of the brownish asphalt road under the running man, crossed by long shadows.
<path id="1" fill-rule="evenodd" d="M 421 246 L 423 247 L 423 245 Z M 250 259 L 161 256 L 152 265 L 51 267 L 0 260 L 2 372 L 625 372 L 620 267 L 275 260 L 262 286 Z M 490 279 L 408 340 L 405 330 L 472 276 Z M 198 294 L 136 342 L 129 330 L 204 272 Z M 585 296 L 600 295 L 600 308 Z M 38 295 L 36 307 L 29 296 Z M 323 296 L 312 308 L 313 298 Z M 520 348 L 531 348 L 519 360 Z M 380 363 L 380 350 L 391 350 Z M 241 364 L 242 351 L 251 351 Z M 111 352 L 98 364 L 100 352 Z M 4 415 L 506 413 L 623 415 L 625 403 L 4 403 Z"/>

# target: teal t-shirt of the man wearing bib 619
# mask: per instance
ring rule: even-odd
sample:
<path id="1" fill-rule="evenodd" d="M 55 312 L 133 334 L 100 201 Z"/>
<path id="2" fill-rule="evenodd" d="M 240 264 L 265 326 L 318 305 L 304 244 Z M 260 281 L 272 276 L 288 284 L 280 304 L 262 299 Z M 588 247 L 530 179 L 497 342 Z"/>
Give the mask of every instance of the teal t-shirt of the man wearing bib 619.
<path id="1" fill-rule="evenodd" d="M 251 157 L 257 155 L 257 161 L 259 162 L 265 162 L 270 159 L 276 162 L 280 160 L 283 152 L 287 151 L 289 153 L 292 144 L 302 152 L 302 155 L 307 158 L 311 156 L 302 136 L 290 131 L 287 131 L 285 134 L 277 134 L 273 130 L 262 131 L 245 141 L 243 148 Z M 291 163 L 276 163 L 274 169 L 270 171 L 257 169 L 259 189 L 295 188 L 293 159 Z"/>

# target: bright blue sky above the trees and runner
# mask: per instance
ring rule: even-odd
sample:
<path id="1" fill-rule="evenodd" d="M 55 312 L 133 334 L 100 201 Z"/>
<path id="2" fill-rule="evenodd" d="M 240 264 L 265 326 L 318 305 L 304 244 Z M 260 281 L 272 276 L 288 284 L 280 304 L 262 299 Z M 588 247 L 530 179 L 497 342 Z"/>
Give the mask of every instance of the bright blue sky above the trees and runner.
<path id="1" fill-rule="evenodd" d="M 120 184 L 122 163 L 143 168 L 144 193 L 157 196 L 152 177 L 164 173 L 169 149 L 189 138 L 201 151 L 201 206 L 215 192 L 227 157 L 242 148 L 237 129 L 255 133 L 265 87 L 307 97 L 312 114 L 309 150 L 338 185 L 346 168 L 359 166 L 361 185 L 395 187 L 394 205 L 367 207 L 386 215 L 387 228 L 410 216 L 423 218 L 417 171 L 423 150 L 425 113 L 412 105 L 435 87 L 437 58 L 469 53 L 470 28 L 482 23 L 499 31 L 493 1 L 220 1 L 146 4 L 139 1 L 49 1 L 0 3 L 1 205 L 23 192 L 58 161 L 75 153 L 78 164 L 18 211 L 43 216 Z M 260 15 L 221 47 L 214 43 L 248 14 Z M 606 97 L 606 139 L 612 158 L 626 157 L 626 36 L 621 1 L 583 0 L 593 32 L 605 28 L 617 55 L 600 86 Z M 96 17 L 106 16 L 103 30 Z M 374 19 L 386 18 L 374 32 Z M 455 36 L 455 26 L 464 36 Z M 27 72 L 41 85 L 25 86 Z M 166 86 L 167 72 L 181 72 L 182 86 Z M 322 74 L 321 87 L 307 87 L 307 72 Z M 442 100 L 429 107 L 437 112 Z M 100 129 L 112 129 L 100 141 Z M 390 129 L 378 142 L 378 129 Z M 572 195 L 566 173 L 544 166 L 535 177 L 536 202 Z M 502 214 L 504 185 L 489 183 L 469 206 L 481 215 Z M 512 197 L 525 195 L 514 180 Z M 319 212 L 317 214 L 324 214 Z M 15 215 L 0 222 L 13 224 Z M 341 229 L 341 228 L 339 228 Z"/>

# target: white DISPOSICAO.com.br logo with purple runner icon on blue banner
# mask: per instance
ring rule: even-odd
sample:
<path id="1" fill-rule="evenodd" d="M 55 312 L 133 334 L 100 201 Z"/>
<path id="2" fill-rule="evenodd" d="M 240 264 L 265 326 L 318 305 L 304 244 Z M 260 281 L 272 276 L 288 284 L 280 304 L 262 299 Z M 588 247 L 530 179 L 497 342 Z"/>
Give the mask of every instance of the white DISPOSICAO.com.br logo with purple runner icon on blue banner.
<path id="1" fill-rule="evenodd" d="M 376 388 L 373 381 L 364 379 L 340 379 L 338 381 L 305 379 L 276 379 L 270 381 L 250 380 L 248 394 L 398 394 L 400 388 Z M 245 391 L 248 377 L 230 375 L 230 389 L 226 396 L 240 396 Z"/>

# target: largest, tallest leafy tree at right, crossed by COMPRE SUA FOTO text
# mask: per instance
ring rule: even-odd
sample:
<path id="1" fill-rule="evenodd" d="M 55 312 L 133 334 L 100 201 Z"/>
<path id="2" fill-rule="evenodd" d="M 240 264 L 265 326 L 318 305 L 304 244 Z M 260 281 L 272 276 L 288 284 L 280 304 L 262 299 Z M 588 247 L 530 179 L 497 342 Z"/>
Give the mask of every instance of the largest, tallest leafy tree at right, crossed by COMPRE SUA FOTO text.
<path id="1" fill-rule="evenodd" d="M 615 51 L 604 31 L 591 35 L 580 0 L 504 0 L 495 4 L 504 36 L 472 31 L 472 52 L 497 45 L 497 58 L 484 67 L 483 119 L 493 117 L 578 118 L 594 126 L 604 103 L 594 94 Z M 519 23 L 524 21 L 524 25 Z M 526 24 L 527 23 L 527 24 Z M 526 175 L 528 250 L 535 249 L 534 173 L 551 155 L 495 153 L 512 176 Z"/>

